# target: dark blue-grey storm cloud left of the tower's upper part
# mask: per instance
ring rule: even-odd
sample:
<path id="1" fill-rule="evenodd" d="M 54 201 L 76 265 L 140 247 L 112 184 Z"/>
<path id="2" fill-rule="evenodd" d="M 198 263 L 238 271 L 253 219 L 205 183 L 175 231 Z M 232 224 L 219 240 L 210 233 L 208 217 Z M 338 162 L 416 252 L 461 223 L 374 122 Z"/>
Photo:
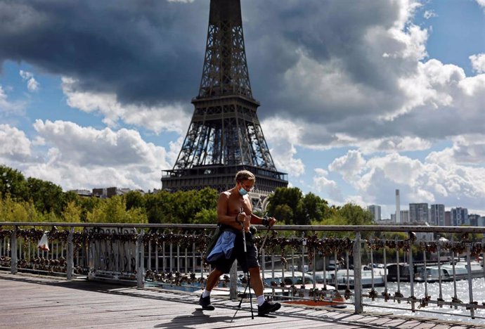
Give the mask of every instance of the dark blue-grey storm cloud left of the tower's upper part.
<path id="1" fill-rule="evenodd" d="M 127 103 L 198 92 L 207 1 L 1 1 L 0 62 L 26 61 Z"/>

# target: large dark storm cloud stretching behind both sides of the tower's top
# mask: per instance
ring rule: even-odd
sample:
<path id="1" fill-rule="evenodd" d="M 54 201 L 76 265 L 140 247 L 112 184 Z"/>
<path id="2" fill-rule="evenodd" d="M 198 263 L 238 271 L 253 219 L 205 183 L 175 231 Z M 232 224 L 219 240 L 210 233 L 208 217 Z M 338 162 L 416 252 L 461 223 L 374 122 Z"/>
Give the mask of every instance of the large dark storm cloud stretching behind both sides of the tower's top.
<path id="1" fill-rule="evenodd" d="M 306 124 L 307 145 L 329 145 L 339 133 L 444 138 L 479 129 L 469 125 L 480 122 L 475 113 L 455 117 L 457 108 L 439 116 L 439 127 L 427 104 L 377 120 L 403 108 L 408 96 L 399 81 L 418 70 L 416 56 L 383 56 L 406 48 L 387 33 L 402 20 L 401 2 L 241 3 L 259 117 Z M 116 93 L 121 103 L 189 104 L 200 84 L 208 17 L 209 0 L 0 0 L 0 63 L 26 61 L 76 78 L 77 91 Z M 459 129 L 451 124 L 457 119 Z"/>

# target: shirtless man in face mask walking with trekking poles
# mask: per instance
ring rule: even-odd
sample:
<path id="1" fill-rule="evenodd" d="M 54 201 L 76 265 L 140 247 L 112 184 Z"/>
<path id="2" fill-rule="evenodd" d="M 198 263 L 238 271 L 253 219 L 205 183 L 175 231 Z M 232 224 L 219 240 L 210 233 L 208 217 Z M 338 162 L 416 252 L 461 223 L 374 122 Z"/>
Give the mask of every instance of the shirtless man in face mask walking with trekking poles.
<path id="1" fill-rule="evenodd" d="M 279 303 L 266 301 L 263 295 L 264 288 L 259 274 L 258 252 L 252 240 L 250 226 L 251 224 L 263 224 L 271 227 L 276 223 L 276 219 L 273 217 L 263 219 L 252 213 L 252 204 L 247 193 L 252 191 L 255 182 L 256 177 L 254 177 L 252 172 L 241 170 L 235 175 L 235 186 L 219 195 L 219 200 L 217 201 L 217 222 L 221 225 L 222 231 L 231 230 L 236 233 L 236 238 L 231 258 L 221 257 L 221 259 L 214 262 L 215 269 L 209 273 L 207 286 L 199 299 L 202 309 L 214 310 L 214 306 L 210 304 L 210 292 L 219 282 L 219 277 L 224 273 L 229 273 L 234 259 L 238 259 L 238 264 L 244 272 L 247 272 L 249 269 L 251 288 L 254 290 L 258 300 L 258 315 L 263 316 L 264 314 L 277 311 L 281 307 Z M 241 209 L 243 210 L 242 212 Z M 247 255 L 244 252 L 243 245 L 243 226 L 246 235 Z"/>

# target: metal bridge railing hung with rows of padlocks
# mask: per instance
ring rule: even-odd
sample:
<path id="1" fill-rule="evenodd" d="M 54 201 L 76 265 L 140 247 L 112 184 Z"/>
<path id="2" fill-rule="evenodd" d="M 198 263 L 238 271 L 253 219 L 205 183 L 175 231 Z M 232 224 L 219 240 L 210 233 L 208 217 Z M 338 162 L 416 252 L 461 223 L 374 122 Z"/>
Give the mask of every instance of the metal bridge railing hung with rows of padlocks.
<path id="1" fill-rule="evenodd" d="M 86 276 L 138 287 L 158 284 L 187 289 L 205 284 L 210 271 L 205 249 L 216 227 L 0 225 L 0 269 L 11 273 L 31 271 L 67 279 Z M 48 252 L 37 248 L 44 232 Z M 441 309 L 451 307 L 463 310 L 456 315 L 485 319 L 484 233 L 484 227 L 278 225 L 271 232 L 263 228 L 254 243 L 261 246 L 266 238 L 260 250 L 261 276 L 265 293 L 273 299 L 351 304 L 357 314 L 364 307 L 446 314 Z M 234 298 L 237 287 L 245 283 L 233 266 L 230 278 L 221 278 L 221 285 L 230 285 L 228 295 Z M 465 288 L 465 297 L 460 287 Z"/>

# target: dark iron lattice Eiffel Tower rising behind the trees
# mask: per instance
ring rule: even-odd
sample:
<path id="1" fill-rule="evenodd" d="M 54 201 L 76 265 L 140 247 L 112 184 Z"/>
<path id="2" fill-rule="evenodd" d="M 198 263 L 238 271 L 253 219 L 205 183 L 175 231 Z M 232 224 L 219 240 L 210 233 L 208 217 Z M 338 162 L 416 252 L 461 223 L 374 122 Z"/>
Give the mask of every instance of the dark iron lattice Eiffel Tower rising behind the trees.
<path id="1" fill-rule="evenodd" d="M 207 186 L 233 188 L 235 173 L 256 176 L 254 200 L 286 187 L 276 170 L 256 114 L 247 72 L 240 0 L 211 0 L 207 46 L 199 94 L 174 168 L 165 170 L 162 189 L 188 191 Z M 261 198 L 262 197 L 262 198 Z"/>

